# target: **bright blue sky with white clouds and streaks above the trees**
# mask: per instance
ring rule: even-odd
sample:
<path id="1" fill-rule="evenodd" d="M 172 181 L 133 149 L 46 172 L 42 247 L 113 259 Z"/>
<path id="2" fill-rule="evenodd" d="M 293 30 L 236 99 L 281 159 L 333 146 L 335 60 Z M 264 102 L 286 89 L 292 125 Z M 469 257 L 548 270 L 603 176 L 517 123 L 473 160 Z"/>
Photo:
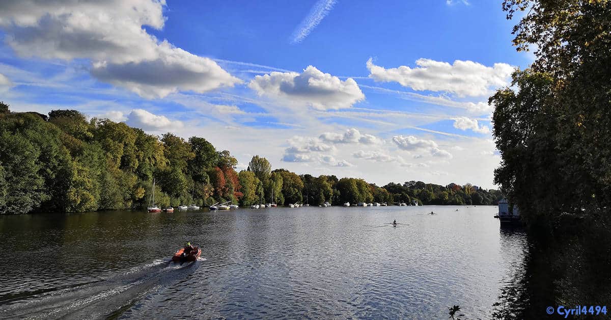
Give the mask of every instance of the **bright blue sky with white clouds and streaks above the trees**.
<path id="1" fill-rule="evenodd" d="M 500 1 L 0 2 L 0 100 L 202 136 L 245 169 L 495 188 Z"/>

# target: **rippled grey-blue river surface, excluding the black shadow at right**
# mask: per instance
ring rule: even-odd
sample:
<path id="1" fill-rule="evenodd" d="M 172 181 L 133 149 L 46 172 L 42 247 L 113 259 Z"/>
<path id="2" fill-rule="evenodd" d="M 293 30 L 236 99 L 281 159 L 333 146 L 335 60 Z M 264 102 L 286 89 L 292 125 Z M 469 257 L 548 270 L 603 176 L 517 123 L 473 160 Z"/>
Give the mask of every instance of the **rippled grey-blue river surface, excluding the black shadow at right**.
<path id="1" fill-rule="evenodd" d="M 447 319 L 447 307 L 459 305 L 461 319 L 490 319 L 511 311 L 503 308 L 519 291 L 528 255 L 524 233 L 500 228 L 496 212 L 1 216 L 0 318 Z M 199 261 L 170 263 L 187 240 L 203 249 Z"/>

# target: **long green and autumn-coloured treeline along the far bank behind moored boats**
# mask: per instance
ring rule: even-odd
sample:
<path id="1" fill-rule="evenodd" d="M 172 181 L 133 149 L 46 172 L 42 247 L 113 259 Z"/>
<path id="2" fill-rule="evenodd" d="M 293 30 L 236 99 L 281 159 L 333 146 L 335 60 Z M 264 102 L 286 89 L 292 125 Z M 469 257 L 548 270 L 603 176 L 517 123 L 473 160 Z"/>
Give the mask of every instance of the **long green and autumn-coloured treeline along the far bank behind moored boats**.
<path id="1" fill-rule="evenodd" d="M 0 103 L 0 214 L 136 209 L 155 204 L 333 204 L 378 202 L 497 204 L 501 194 L 474 185 L 410 181 L 384 187 L 354 178 L 271 170 L 255 156 L 236 158 L 204 138 L 159 137 L 75 110 L 11 113 Z"/>

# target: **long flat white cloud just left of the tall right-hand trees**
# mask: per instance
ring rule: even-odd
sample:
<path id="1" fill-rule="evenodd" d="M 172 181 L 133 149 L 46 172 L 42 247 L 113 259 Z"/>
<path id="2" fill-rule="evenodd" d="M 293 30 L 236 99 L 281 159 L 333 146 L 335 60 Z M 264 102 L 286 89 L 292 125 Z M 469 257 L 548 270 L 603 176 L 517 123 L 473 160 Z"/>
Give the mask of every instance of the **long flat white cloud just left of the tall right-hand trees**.
<path id="1" fill-rule="evenodd" d="M 445 91 L 461 97 L 487 95 L 494 87 L 506 86 L 514 70 L 504 63 L 486 67 L 473 61 L 456 60 L 449 64 L 423 58 L 416 65 L 386 69 L 373 64 L 371 58 L 367 61 L 369 76 L 375 81 L 395 81 L 416 91 Z"/>

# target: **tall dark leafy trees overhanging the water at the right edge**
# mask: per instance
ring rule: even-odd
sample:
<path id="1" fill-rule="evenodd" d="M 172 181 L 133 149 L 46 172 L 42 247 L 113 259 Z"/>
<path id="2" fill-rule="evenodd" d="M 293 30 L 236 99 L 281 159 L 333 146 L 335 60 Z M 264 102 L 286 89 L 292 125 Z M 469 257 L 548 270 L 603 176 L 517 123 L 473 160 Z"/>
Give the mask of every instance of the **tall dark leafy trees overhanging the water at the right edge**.
<path id="1" fill-rule="evenodd" d="M 611 2 L 507 0 L 518 51 L 536 47 L 530 69 L 513 75 L 496 105 L 502 157 L 495 180 L 529 225 L 565 213 L 611 211 Z M 534 45 L 534 46 L 533 46 Z"/>

